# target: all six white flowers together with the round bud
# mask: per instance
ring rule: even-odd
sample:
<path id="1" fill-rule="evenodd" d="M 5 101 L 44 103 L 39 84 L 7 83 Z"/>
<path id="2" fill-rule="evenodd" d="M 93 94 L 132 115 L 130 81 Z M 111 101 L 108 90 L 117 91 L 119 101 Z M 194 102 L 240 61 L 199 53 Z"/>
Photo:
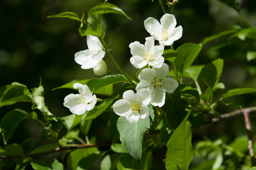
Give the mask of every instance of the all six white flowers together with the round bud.
<path id="1" fill-rule="evenodd" d="M 138 41 L 132 42 L 129 47 L 133 57 L 131 64 L 137 69 L 143 69 L 139 74 L 140 82 L 134 91 L 128 90 L 123 93 L 123 99 L 115 101 L 113 110 L 119 116 L 125 116 L 127 121 L 135 123 L 139 118 L 146 119 L 150 116 L 148 104 L 155 107 L 162 107 L 166 99 L 166 92 L 172 93 L 179 86 L 176 80 L 166 77 L 169 66 L 164 63 L 164 46 L 172 45 L 175 40 L 182 36 L 182 27 L 176 27 L 174 15 L 164 14 L 158 20 L 148 18 L 144 26 L 151 37 L 146 38 L 145 44 Z M 160 45 L 155 45 L 158 40 Z M 96 75 L 104 75 L 107 66 L 102 58 L 105 52 L 98 37 L 87 36 L 89 49 L 82 50 L 75 54 L 75 61 L 82 69 L 92 69 Z M 73 114 L 83 114 L 90 111 L 97 103 L 96 95 L 92 95 L 89 87 L 80 83 L 73 84 L 73 88 L 79 89 L 79 94 L 70 94 L 64 99 L 64 106 L 69 108 Z"/>

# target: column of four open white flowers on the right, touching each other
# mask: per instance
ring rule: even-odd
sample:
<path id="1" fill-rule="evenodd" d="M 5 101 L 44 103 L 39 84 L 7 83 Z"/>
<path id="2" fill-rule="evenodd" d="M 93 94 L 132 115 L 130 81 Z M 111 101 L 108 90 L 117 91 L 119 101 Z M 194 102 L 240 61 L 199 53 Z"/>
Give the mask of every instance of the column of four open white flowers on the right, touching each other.
<path id="1" fill-rule="evenodd" d="M 151 37 L 146 38 L 145 44 L 138 41 L 132 42 L 131 64 L 137 69 L 148 65 L 139 74 L 140 82 L 135 88 L 137 94 L 129 90 L 123 93 L 123 99 L 118 100 L 113 105 L 113 110 L 119 116 L 125 116 L 126 120 L 135 123 L 139 118 L 146 119 L 150 116 L 148 104 L 155 107 L 162 107 L 166 99 L 166 92 L 172 93 L 179 86 L 176 80 L 166 77 L 169 66 L 164 62 L 162 54 L 164 46 L 172 45 L 174 41 L 182 36 L 182 27 L 176 27 L 174 15 L 164 14 L 158 20 L 148 18 L 144 21 L 144 26 Z M 155 40 L 160 45 L 155 46 Z M 152 67 L 152 68 L 150 68 Z"/>

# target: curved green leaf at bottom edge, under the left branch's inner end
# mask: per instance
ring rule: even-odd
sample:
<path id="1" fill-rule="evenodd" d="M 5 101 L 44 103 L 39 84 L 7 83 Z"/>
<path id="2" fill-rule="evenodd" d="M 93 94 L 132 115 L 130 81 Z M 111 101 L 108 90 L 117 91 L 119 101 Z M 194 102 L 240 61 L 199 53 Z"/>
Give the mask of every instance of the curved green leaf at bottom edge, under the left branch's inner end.
<path id="1" fill-rule="evenodd" d="M 67 158 L 67 164 L 69 169 L 76 170 L 77 165 L 79 164 L 80 160 L 82 158 L 85 158 L 86 156 L 92 155 L 93 153 L 97 152 L 97 147 L 92 148 L 80 148 L 73 150 Z"/>

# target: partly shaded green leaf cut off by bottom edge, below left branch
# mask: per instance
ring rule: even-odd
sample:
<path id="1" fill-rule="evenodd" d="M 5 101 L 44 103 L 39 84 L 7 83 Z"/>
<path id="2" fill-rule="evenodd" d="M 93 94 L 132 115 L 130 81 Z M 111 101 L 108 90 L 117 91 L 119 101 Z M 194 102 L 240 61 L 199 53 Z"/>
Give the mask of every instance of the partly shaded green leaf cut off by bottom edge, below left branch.
<path id="1" fill-rule="evenodd" d="M 54 158 L 32 159 L 31 166 L 36 170 L 61 170 L 63 164 Z"/>

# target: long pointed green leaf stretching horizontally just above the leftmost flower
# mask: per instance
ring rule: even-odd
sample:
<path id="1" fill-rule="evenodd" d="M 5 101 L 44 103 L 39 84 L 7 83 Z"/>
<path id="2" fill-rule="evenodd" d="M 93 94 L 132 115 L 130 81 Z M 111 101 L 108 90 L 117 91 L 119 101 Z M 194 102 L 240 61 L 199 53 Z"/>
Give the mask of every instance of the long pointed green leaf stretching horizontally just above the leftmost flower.
<path id="1" fill-rule="evenodd" d="M 59 88 L 72 88 L 73 84 L 75 83 L 81 83 L 86 84 L 91 91 L 97 92 L 97 90 L 100 90 L 102 87 L 109 86 L 109 84 L 115 84 L 115 83 L 121 83 L 125 82 L 121 77 L 116 75 L 106 75 L 102 78 L 93 78 L 93 79 L 85 79 L 85 80 L 73 80 L 72 82 L 69 82 L 67 84 L 64 84 L 63 86 L 53 88 L 53 90 L 59 89 Z"/>

